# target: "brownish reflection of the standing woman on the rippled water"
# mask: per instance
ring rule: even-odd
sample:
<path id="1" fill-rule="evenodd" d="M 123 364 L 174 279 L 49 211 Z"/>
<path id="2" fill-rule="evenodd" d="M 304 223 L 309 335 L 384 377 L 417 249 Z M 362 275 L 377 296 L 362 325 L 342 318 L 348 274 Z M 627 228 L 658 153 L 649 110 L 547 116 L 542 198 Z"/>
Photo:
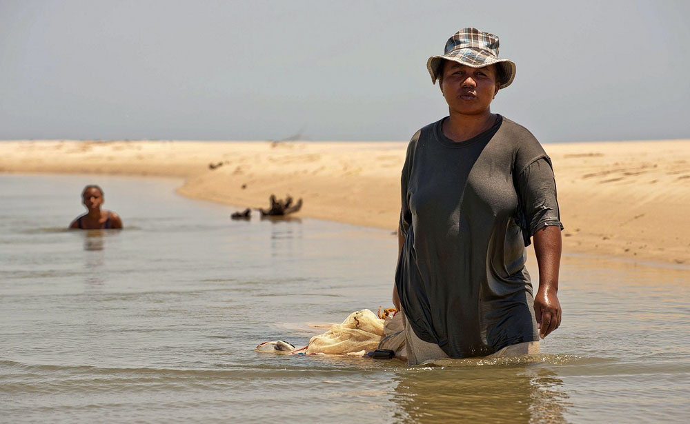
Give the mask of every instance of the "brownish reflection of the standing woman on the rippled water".
<path id="1" fill-rule="evenodd" d="M 569 406 L 555 372 L 529 365 L 397 373 L 395 401 L 411 423 L 562 423 Z"/>

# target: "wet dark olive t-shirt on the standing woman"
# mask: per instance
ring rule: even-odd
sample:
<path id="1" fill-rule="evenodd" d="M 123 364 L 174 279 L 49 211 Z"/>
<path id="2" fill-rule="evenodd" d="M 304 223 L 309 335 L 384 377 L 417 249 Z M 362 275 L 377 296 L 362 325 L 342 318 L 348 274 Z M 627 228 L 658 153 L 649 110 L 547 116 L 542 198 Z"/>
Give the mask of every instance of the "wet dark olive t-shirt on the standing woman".
<path id="1" fill-rule="evenodd" d="M 500 115 L 462 143 L 444 136 L 442 121 L 414 135 L 402 170 L 402 309 L 451 358 L 538 341 L 525 246 L 536 230 L 561 226 L 551 160 Z"/>

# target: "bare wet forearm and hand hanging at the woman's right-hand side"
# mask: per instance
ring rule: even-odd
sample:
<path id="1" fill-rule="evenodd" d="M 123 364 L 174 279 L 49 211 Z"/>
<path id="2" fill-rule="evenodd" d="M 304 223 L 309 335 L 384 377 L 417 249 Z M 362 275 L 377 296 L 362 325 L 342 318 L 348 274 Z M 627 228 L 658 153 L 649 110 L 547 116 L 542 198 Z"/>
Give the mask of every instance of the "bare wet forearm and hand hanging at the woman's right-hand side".
<path id="1" fill-rule="evenodd" d="M 561 321 L 558 301 L 558 268 L 561 256 L 560 227 L 548 225 L 534 233 L 534 252 L 539 265 L 539 290 L 534 297 L 534 314 L 542 339 Z"/>

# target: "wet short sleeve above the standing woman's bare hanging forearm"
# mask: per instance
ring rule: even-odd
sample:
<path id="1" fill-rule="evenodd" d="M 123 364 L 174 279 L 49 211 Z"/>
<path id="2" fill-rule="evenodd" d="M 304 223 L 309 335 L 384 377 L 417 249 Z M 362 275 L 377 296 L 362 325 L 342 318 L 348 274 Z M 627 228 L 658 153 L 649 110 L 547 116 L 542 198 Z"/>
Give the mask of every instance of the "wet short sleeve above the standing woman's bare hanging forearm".
<path id="1" fill-rule="evenodd" d="M 524 245 L 530 245 L 531 236 L 542 227 L 553 225 L 563 230 L 551 159 L 546 154 L 535 159 L 516 180 L 518 225 L 522 227 Z"/>

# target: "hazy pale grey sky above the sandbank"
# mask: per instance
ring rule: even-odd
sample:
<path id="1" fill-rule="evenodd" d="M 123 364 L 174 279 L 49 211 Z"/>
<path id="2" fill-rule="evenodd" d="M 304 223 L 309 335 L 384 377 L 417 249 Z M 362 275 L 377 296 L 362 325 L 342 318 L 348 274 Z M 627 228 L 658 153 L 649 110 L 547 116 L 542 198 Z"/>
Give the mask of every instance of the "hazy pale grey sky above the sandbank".
<path id="1" fill-rule="evenodd" d="M 690 1 L 0 0 L 0 139 L 407 140 L 465 26 L 542 142 L 690 138 Z"/>

